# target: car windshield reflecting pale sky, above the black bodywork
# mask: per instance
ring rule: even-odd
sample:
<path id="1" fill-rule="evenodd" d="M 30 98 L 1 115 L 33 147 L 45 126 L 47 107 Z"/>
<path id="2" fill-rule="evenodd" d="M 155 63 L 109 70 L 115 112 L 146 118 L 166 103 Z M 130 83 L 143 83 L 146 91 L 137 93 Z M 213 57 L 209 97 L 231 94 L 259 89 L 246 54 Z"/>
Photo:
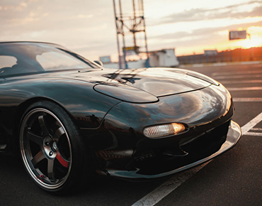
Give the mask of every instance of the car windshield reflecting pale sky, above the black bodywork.
<path id="1" fill-rule="evenodd" d="M 58 45 L 0 43 L 0 77 L 94 67 L 98 65 Z"/>

